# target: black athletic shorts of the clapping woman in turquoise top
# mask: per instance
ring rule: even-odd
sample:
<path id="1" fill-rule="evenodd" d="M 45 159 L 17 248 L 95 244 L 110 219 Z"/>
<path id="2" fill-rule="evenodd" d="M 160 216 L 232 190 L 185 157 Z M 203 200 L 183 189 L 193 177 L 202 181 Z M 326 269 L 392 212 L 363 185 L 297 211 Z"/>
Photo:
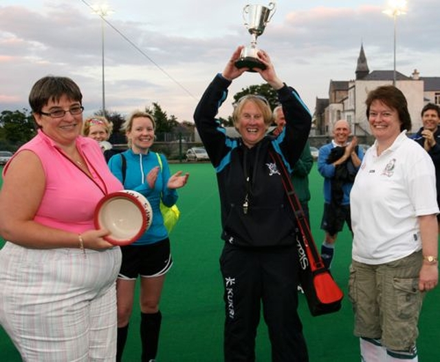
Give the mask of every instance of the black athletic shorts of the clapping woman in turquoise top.
<path id="1" fill-rule="evenodd" d="M 121 251 L 120 279 L 158 277 L 173 266 L 168 237 L 154 244 L 121 246 Z"/>

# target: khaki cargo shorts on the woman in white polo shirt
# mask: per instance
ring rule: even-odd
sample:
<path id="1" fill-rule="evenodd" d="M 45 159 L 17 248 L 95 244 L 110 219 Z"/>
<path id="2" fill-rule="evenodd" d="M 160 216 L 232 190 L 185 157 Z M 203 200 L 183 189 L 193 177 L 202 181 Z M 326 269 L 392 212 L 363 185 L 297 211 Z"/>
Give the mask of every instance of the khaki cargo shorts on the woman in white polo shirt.
<path id="1" fill-rule="evenodd" d="M 354 334 L 380 339 L 388 350 L 415 346 L 423 299 L 419 291 L 421 251 L 387 264 L 352 261 L 349 299 L 355 312 Z"/>

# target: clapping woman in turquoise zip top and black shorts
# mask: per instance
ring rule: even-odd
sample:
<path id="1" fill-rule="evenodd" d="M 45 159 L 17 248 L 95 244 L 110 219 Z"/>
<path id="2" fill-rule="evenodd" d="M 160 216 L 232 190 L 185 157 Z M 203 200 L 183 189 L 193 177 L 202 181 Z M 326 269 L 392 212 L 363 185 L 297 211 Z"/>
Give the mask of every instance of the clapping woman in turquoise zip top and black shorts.
<path id="1" fill-rule="evenodd" d="M 118 293 L 118 353 L 122 352 L 129 330 L 137 277 L 140 277 L 140 336 L 142 362 L 155 361 L 159 343 L 162 313 L 159 299 L 165 275 L 173 265 L 170 239 L 164 226 L 159 204 L 173 206 L 177 191 L 188 181 L 182 171 L 170 175 L 166 158 L 151 151 L 155 139 L 155 120 L 144 111 L 134 111 L 126 118 L 125 131 L 129 149 L 109 160 L 111 172 L 124 184 L 125 189 L 142 193 L 151 204 L 153 222 L 148 230 L 133 244 L 122 246 L 122 266 L 116 284 Z M 160 158 L 160 162 L 159 162 Z M 124 160 L 124 162 L 123 162 Z M 162 163 L 162 165 L 161 165 Z"/>

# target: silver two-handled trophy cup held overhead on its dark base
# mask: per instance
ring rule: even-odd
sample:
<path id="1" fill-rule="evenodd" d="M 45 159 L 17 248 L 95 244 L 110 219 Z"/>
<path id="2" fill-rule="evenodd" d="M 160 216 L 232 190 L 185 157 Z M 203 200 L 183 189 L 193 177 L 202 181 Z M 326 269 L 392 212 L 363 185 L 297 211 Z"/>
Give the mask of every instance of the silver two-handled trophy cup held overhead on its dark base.
<path id="1" fill-rule="evenodd" d="M 261 63 L 256 53 L 259 51 L 256 47 L 256 39 L 263 34 L 267 23 L 274 16 L 276 10 L 275 3 L 269 3 L 269 6 L 246 5 L 243 8 L 244 25 L 252 35 L 250 46 L 245 47 L 240 54 L 240 58 L 235 62 L 237 68 L 248 67 L 250 72 L 255 72 L 254 68 L 265 69 L 266 66 Z"/>

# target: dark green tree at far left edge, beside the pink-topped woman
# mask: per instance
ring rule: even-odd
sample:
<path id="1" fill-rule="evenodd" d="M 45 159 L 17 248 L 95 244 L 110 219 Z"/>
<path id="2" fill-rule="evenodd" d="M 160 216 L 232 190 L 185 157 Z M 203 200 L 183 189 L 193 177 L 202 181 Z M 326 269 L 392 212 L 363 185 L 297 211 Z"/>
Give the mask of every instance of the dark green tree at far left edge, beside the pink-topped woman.
<path id="1" fill-rule="evenodd" d="M 12 145 L 22 145 L 36 134 L 34 118 L 27 109 L 23 111 L 2 111 L 0 126 L 5 141 Z"/>

